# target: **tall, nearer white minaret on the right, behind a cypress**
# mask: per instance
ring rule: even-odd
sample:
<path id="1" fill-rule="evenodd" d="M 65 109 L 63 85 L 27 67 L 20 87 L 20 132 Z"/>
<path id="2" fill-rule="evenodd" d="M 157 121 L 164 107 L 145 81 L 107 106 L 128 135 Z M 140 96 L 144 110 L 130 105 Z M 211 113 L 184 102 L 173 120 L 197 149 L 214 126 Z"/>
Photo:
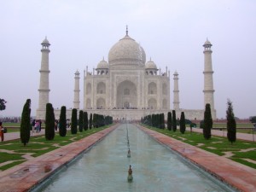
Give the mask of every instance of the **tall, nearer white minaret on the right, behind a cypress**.
<path id="1" fill-rule="evenodd" d="M 212 111 L 212 119 L 216 119 L 216 111 L 214 109 L 214 98 L 213 98 L 213 79 L 212 79 L 212 44 L 208 41 L 206 41 L 205 44 L 203 44 L 204 47 L 204 55 L 205 55 L 205 69 L 204 69 L 204 96 L 205 96 L 205 102 L 204 102 L 204 108 L 206 107 L 206 104 L 209 103 L 211 105 L 211 111 Z"/>

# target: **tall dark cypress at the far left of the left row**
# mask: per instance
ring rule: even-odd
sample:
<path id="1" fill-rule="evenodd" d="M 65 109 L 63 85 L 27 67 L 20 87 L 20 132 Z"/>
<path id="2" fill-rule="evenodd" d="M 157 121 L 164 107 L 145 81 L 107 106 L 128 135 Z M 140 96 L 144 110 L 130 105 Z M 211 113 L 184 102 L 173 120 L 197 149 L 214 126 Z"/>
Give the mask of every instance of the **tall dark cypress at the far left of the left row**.
<path id="1" fill-rule="evenodd" d="M 20 140 L 21 143 L 26 146 L 26 143 L 29 142 L 30 139 L 30 113 L 31 113 L 31 100 L 27 99 L 26 103 L 23 107 L 21 114 L 21 123 L 20 123 Z"/>

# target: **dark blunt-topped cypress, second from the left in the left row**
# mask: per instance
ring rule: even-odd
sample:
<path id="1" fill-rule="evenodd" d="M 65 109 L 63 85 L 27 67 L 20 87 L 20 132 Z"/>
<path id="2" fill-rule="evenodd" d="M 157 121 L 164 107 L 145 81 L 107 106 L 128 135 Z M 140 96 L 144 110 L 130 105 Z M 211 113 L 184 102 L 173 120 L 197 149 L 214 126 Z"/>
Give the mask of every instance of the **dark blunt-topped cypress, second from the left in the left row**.
<path id="1" fill-rule="evenodd" d="M 55 113 L 51 103 L 46 104 L 44 135 L 46 140 L 53 140 L 55 138 Z"/>

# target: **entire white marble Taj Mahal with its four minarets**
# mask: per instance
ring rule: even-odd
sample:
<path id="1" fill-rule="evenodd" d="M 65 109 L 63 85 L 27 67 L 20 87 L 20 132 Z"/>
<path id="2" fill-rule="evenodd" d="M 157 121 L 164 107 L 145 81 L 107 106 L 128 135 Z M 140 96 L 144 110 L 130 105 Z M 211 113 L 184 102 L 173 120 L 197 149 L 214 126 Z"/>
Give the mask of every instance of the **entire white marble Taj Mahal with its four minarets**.
<path id="1" fill-rule="evenodd" d="M 42 61 L 37 119 L 45 119 L 46 103 L 49 101 L 49 41 L 42 43 Z M 212 79 L 212 44 L 207 40 L 204 50 L 204 106 L 211 104 L 212 119 L 216 119 L 214 108 L 214 90 Z M 173 86 L 170 81 L 173 79 Z M 179 108 L 178 73 L 173 78 L 168 67 L 162 70 L 151 58 L 146 61 L 146 53 L 140 44 L 131 38 L 126 27 L 125 37 L 119 39 L 108 52 L 108 61 L 103 58 L 92 72 L 84 70 L 84 106 L 80 106 L 80 73 L 74 73 L 73 108 L 90 113 L 113 116 L 113 119 L 139 120 L 153 113 L 176 111 L 177 118 L 184 112 L 186 119 L 203 119 L 204 108 Z M 172 95 L 171 95 L 172 88 Z M 172 97 L 172 99 L 171 99 Z M 172 108 L 171 108 L 172 103 Z M 54 103 L 53 103 L 54 104 Z M 67 118 L 72 109 L 67 109 Z M 60 116 L 60 109 L 55 109 L 55 118 Z"/>

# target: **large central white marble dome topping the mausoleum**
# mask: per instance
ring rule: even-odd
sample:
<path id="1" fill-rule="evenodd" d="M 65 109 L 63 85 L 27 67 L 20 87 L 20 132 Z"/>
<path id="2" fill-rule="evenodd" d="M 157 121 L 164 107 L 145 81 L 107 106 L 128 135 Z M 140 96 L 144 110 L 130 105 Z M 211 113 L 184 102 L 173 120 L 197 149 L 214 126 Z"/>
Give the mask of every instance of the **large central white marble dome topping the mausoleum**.
<path id="1" fill-rule="evenodd" d="M 144 66 L 146 54 L 140 44 L 130 38 L 126 32 L 125 38 L 121 38 L 118 43 L 114 44 L 108 53 L 108 63 L 110 66 L 115 65 L 139 65 Z"/>

